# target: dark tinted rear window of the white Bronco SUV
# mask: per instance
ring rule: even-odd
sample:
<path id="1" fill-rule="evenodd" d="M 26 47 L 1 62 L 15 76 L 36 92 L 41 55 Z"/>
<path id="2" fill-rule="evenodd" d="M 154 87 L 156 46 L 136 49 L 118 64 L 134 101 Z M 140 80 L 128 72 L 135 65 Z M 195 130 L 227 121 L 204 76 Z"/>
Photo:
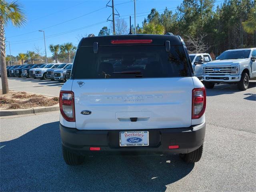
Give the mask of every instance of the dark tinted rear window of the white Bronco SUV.
<path id="1" fill-rule="evenodd" d="M 106 46 L 77 50 L 75 79 L 166 78 L 190 76 L 182 46 Z"/>

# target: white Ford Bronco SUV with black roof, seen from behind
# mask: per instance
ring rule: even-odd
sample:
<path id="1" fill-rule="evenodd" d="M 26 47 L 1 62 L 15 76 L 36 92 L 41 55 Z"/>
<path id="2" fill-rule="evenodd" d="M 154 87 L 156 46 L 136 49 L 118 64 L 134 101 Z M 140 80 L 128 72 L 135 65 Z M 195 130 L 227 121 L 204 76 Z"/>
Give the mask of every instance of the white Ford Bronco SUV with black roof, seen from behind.
<path id="1" fill-rule="evenodd" d="M 197 162 L 205 107 L 180 36 L 83 38 L 60 91 L 63 158 L 78 165 L 97 154 L 180 154 Z"/>

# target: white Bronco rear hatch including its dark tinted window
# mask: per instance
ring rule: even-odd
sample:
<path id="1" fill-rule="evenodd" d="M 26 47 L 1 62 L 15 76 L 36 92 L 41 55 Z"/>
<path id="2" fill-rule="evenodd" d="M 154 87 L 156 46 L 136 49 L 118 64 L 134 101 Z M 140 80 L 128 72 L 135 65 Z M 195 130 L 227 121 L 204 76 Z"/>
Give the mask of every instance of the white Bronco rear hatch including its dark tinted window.
<path id="1" fill-rule="evenodd" d="M 77 129 L 191 126 L 194 84 L 182 46 L 171 46 L 170 53 L 164 46 L 103 47 L 97 54 L 82 47 L 78 52 L 72 69 Z"/>

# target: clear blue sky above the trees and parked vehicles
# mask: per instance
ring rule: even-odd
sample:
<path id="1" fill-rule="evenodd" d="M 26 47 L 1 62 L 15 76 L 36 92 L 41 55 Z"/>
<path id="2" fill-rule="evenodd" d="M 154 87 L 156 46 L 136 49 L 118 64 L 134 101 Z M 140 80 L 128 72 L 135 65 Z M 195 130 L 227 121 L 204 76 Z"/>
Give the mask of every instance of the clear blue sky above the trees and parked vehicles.
<path id="1" fill-rule="evenodd" d="M 111 21 L 107 22 L 107 18 L 112 14 L 112 8 L 106 7 L 108 1 L 19 0 L 24 7 L 27 21 L 21 28 L 15 28 L 11 24 L 5 28 L 6 41 L 10 41 L 12 55 L 26 53 L 28 50 L 35 51 L 36 48 L 44 54 L 44 36 L 43 32 L 38 30 L 45 31 L 48 57 L 52 56 L 50 44 L 72 42 L 77 45 L 86 34 L 97 36 L 103 26 L 109 28 L 112 24 Z M 136 23 L 141 26 L 152 8 L 156 8 L 160 13 L 166 7 L 175 12 L 181 3 L 182 0 L 136 0 Z M 129 25 L 129 16 L 132 16 L 134 24 L 134 0 L 114 0 L 114 5 L 120 18 L 124 18 Z M 6 54 L 10 54 L 9 42 L 6 42 Z"/>

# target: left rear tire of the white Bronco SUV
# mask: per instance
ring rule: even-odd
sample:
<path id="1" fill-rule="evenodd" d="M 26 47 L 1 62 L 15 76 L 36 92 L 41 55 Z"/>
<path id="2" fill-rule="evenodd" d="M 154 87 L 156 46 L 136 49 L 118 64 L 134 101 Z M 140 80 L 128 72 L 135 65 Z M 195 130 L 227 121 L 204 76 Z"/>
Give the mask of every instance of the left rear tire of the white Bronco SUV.
<path id="1" fill-rule="evenodd" d="M 62 146 L 62 154 L 64 161 L 68 165 L 80 165 L 84 162 L 84 156 L 70 152 L 66 147 Z"/>

